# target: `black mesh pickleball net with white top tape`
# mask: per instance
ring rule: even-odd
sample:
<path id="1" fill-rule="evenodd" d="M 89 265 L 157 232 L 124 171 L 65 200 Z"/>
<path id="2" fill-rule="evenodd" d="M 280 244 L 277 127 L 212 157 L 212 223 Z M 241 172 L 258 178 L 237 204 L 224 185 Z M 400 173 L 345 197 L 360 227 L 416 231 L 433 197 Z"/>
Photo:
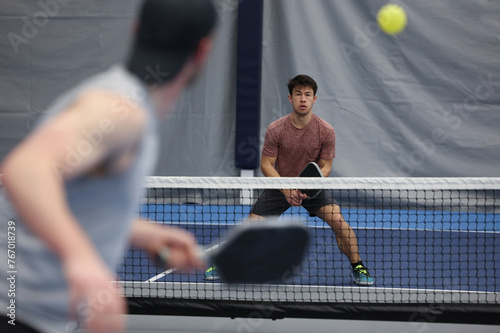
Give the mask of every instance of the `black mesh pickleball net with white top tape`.
<path id="1" fill-rule="evenodd" d="M 130 249 L 118 269 L 132 313 L 496 323 L 500 178 L 150 177 L 143 218 L 192 232 L 205 251 L 244 222 L 264 189 L 332 191 L 372 286 L 357 286 L 333 230 L 302 207 L 311 244 L 282 281 L 226 285 L 166 270 Z"/>

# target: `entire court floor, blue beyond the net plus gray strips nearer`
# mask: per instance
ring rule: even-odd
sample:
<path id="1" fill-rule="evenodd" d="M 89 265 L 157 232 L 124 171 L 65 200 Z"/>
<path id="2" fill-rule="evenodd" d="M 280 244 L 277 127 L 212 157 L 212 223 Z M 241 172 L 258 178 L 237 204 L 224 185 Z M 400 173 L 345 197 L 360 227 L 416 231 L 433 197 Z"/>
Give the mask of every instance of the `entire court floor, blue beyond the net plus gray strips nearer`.
<path id="1" fill-rule="evenodd" d="M 234 221 L 244 219 L 247 210 L 248 207 L 243 206 L 149 205 L 144 207 L 142 213 L 157 221 L 176 221 L 169 224 L 189 230 L 203 247 L 210 248 L 214 242 L 225 238 L 234 227 Z M 310 297 L 315 300 L 313 296 L 316 294 L 323 298 L 328 296 L 327 301 L 337 301 L 341 297 L 344 302 L 357 302 L 359 300 L 356 297 L 359 296 L 369 303 L 408 299 L 426 303 L 435 298 L 437 301 L 444 299 L 459 303 L 498 303 L 500 300 L 500 286 L 495 278 L 500 276 L 500 224 L 496 223 L 497 214 L 366 209 L 343 212 L 356 231 L 361 251 L 376 279 L 375 286 L 359 288 L 352 282 L 346 260 L 334 245 L 332 230 L 319 219 L 304 215 L 303 211 L 292 209 L 288 213 L 307 221 L 312 235 L 310 250 L 300 274 L 285 286 L 276 287 L 280 292 L 270 290 L 269 297 L 278 297 L 285 302 L 289 301 L 286 297 Z M 483 274 L 485 271 L 491 274 Z M 154 294 L 183 299 L 184 295 L 195 295 L 195 299 L 203 300 L 219 295 L 217 292 L 220 291 L 222 299 L 226 299 L 227 295 L 233 299 L 232 290 L 224 289 L 217 282 L 204 281 L 203 272 L 164 272 L 151 263 L 147 254 L 135 250 L 128 252 L 118 275 L 124 286 L 127 286 L 127 296 L 147 297 Z M 300 293 L 287 292 L 283 289 L 287 286 L 292 286 L 294 291 L 300 289 Z M 302 286 L 304 288 L 298 288 Z M 317 293 L 314 289 L 311 293 L 313 296 L 304 294 L 311 286 L 324 290 Z M 247 293 L 238 289 L 235 292 L 241 299 L 246 299 L 247 294 L 255 294 L 254 290 Z M 284 299 L 280 298 L 282 294 Z M 266 295 L 264 290 L 259 289 L 260 300 L 267 300 Z M 391 299 L 391 295 L 399 298 Z M 425 312 L 417 314 L 417 318 L 411 322 L 409 319 L 405 322 L 387 322 L 287 317 L 273 321 L 249 317 L 231 319 L 149 315 L 130 315 L 127 319 L 127 333 L 499 332 L 499 326 L 432 323 L 432 315 L 426 316 Z"/>

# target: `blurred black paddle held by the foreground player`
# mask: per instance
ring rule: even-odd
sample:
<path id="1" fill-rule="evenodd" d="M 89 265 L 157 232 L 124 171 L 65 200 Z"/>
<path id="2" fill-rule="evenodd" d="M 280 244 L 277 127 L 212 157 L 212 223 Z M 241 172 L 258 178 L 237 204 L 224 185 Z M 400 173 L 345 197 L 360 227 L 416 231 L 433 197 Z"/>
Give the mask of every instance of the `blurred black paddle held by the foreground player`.
<path id="1" fill-rule="evenodd" d="M 204 252 L 227 283 L 281 282 L 293 276 L 309 244 L 307 229 L 296 223 L 262 223 L 236 229 L 217 249 Z M 167 254 L 167 255 L 165 255 Z M 168 263 L 168 251 L 158 262 Z"/>

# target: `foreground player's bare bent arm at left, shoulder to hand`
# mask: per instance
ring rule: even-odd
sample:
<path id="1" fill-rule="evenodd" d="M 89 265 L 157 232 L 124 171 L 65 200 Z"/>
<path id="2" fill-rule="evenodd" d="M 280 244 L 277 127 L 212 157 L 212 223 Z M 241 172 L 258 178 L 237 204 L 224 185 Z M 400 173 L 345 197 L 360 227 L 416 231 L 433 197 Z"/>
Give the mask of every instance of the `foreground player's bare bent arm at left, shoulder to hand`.
<path id="1" fill-rule="evenodd" d="M 114 276 L 70 211 L 61 180 L 91 173 L 109 161 L 110 156 L 120 160 L 135 147 L 145 124 L 144 117 L 142 110 L 118 96 L 89 93 L 39 127 L 1 166 L 3 185 L 17 211 L 60 257 L 73 309 L 109 288 Z M 76 149 L 86 140 L 85 131 L 101 128 L 103 121 L 108 130 L 100 144 L 85 151 L 80 163 L 71 164 L 63 174 L 56 172 L 54 165 L 67 165 L 68 148 Z M 125 302 L 115 295 L 103 307 L 102 315 L 91 318 L 88 328 L 119 329 L 121 322 L 106 321 L 104 317 L 123 313 L 125 308 Z"/>

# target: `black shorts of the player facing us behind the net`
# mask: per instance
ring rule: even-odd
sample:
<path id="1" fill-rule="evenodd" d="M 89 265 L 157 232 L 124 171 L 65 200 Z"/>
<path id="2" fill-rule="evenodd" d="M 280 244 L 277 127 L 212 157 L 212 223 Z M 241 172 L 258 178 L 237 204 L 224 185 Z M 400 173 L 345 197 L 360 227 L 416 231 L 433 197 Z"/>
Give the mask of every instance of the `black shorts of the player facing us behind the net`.
<path id="1" fill-rule="evenodd" d="M 316 212 L 321 207 L 331 204 L 338 205 L 337 201 L 333 198 L 331 190 L 323 190 L 315 198 L 302 201 L 302 207 L 307 209 L 311 217 L 316 216 Z M 286 201 L 281 191 L 267 189 L 264 190 L 257 202 L 253 205 L 250 213 L 259 216 L 279 216 L 290 207 L 290 204 Z"/>

